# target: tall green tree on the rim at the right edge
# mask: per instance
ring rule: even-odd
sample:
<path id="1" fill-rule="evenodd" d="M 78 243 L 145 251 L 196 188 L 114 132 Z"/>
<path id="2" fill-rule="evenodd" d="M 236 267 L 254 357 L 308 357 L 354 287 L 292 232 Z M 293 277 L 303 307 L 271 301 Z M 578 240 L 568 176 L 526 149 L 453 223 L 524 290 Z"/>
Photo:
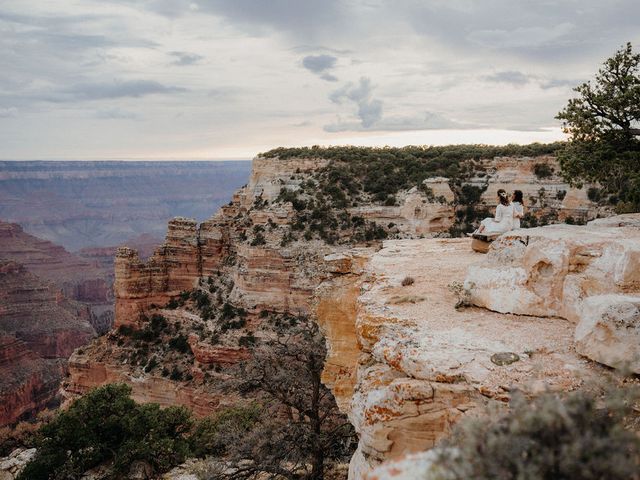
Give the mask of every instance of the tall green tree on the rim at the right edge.
<path id="1" fill-rule="evenodd" d="M 558 158 L 573 185 L 598 183 L 618 213 L 640 211 L 640 54 L 631 43 L 558 113 L 570 135 Z"/>

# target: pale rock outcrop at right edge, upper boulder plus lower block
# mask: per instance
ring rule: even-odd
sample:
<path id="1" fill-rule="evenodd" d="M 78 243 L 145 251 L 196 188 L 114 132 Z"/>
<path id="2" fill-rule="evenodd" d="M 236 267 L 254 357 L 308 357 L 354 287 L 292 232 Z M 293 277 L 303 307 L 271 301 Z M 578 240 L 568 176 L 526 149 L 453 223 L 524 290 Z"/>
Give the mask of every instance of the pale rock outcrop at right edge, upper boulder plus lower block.
<path id="1" fill-rule="evenodd" d="M 580 353 L 638 373 L 639 218 L 504 234 L 469 269 L 469 301 L 498 312 L 566 318 L 578 324 Z"/>

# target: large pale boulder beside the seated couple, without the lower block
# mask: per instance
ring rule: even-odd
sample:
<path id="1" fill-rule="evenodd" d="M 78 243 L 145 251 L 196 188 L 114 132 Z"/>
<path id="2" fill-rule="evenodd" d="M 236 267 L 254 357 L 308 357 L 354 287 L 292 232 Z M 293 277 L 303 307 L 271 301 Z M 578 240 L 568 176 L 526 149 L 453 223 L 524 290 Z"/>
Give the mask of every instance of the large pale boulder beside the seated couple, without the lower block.
<path id="1" fill-rule="evenodd" d="M 640 290 L 640 229 L 550 225 L 505 233 L 469 268 L 465 289 L 480 307 L 577 323 L 585 299 Z"/>

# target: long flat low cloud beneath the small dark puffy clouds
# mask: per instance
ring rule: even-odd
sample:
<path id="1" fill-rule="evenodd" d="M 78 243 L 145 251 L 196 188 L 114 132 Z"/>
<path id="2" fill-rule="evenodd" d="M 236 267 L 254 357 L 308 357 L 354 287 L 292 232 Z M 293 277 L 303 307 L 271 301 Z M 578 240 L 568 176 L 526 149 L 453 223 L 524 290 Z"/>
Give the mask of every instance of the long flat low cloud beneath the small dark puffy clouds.
<path id="1" fill-rule="evenodd" d="M 424 112 L 418 116 L 390 116 L 385 117 L 370 127 L 365 127 L 357 122 L 336 122 L 324 126 L 326 132 L 362 132 L 362 131 L 387 131 L 402 132 L 412 130 L 444 130 L 444 129 L 467 129 L 479 128 L 479 125 L 463 124 L 450 120 L 442 114 L 436 112 Z"/>

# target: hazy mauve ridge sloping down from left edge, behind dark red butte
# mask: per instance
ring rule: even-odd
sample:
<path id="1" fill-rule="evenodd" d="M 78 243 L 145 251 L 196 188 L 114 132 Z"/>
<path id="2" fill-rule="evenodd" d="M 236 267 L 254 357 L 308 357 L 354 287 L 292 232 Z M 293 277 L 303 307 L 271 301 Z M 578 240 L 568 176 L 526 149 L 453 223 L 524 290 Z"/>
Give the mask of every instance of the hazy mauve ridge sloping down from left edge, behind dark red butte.
<path id="1" fill-rule="evenodd" d="M 106 271 L 59 245 L 25 233 L 20 225 L 0 222 L 0 252 L 3 258 L 59 286 L 67 298 L 88 303 L 111 301 Z"/>

